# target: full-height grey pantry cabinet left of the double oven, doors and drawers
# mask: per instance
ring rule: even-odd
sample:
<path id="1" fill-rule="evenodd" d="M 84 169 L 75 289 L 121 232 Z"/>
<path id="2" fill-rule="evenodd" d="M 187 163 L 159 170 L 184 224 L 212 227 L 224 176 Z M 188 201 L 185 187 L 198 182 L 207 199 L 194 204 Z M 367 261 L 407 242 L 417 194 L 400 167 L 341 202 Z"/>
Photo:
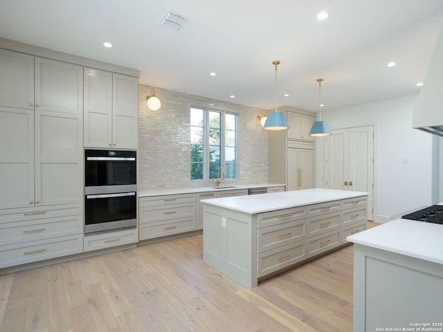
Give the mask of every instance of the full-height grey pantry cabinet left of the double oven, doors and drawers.
<path id="1" fill-rule="evenodd" d="M 0 49 L 0 268 L 82 252 L 83 68 Z"/>

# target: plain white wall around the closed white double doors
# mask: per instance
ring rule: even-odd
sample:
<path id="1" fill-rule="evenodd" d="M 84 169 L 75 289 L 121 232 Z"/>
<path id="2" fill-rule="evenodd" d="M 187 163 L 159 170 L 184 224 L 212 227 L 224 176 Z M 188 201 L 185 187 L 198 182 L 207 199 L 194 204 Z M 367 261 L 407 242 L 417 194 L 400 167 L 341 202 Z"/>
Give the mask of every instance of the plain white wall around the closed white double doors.
<path id="1" fill-rule="evenodd" d="M 418 95 L 322 111 L 331 129 L 374 124 L 374 221 L 431 205 L 432 135 L 412 127 Z M 317 185 L 323 183 L 323 140 L 317 140 Z"/>

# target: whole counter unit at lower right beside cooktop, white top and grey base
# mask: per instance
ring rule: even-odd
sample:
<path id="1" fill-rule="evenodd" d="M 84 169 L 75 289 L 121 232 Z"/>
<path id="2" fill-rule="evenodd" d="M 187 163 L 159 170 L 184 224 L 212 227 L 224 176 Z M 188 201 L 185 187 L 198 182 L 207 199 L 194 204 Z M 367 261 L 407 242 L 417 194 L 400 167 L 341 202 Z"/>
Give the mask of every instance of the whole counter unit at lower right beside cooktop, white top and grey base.
<path id="1" fill-rule="evenodd" d="M 396 219 L 347 240 L 354 331 L 443 331 L 443 225 Z"/>

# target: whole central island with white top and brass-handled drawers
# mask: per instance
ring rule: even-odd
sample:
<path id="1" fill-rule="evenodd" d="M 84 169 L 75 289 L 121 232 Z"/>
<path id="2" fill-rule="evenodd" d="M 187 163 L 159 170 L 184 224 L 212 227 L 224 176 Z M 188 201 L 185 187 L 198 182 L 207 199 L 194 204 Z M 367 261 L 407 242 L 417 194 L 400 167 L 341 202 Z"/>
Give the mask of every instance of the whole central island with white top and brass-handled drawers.
<path id="1" fill-rule="evenodd" d="M 248 288 L 365 230 L 367 192 L 309 189 L 201 200 L 204 261 Z"/>

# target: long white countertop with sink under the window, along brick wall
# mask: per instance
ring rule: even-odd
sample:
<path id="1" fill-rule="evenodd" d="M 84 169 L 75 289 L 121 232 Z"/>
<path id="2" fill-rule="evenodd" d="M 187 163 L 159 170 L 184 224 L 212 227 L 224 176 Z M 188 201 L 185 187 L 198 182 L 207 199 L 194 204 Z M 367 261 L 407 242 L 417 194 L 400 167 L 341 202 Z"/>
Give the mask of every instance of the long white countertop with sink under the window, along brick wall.
<path id="1" fill-rule="evenodd" d="M 213 187 L 194 187 L 194 188 L 178 188 L 168 190 L 145 190 L 138 192 L 138 197 L 148 196 L 163 196 L 163 195 L 177 195 L 177 194 L 197 194 L 198 192 L 220 192 L 224 190 L 247 190 L 261 187 L 280 187 L 282 184 L 278 183 L 252 183 L 249 185 L 220 185 L 219 189 L 216 189 L 214 183 Z"/>

